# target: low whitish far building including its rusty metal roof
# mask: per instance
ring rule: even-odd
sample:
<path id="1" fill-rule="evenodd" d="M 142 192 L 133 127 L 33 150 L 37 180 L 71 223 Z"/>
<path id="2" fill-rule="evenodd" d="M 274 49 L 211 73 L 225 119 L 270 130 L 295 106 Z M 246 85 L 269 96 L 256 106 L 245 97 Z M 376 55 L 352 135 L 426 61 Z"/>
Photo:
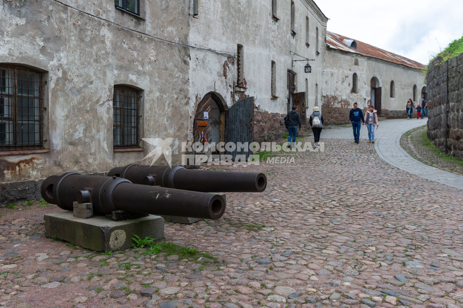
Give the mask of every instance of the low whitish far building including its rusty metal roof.
<path id="1" fill-rule="evenodd" d="M 326 32 L 322 109 L 327 123 L 348 123 L 354 102 L 378 115 L 406 117 L 406 103 L 426 96 L 424 65 L 375 46 Z"/>

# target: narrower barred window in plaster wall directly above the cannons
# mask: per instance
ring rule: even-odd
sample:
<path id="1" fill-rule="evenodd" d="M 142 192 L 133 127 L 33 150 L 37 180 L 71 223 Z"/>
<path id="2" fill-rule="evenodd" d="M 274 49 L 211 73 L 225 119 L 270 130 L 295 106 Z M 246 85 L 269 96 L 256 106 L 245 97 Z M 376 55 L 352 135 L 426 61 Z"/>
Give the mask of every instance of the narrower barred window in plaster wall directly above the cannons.
<path id="1" fill-rule="evenodd" d="M 128 86 L 114 86 L 113 147 L 138 148 L 140 139 L 141 91 Z"/>

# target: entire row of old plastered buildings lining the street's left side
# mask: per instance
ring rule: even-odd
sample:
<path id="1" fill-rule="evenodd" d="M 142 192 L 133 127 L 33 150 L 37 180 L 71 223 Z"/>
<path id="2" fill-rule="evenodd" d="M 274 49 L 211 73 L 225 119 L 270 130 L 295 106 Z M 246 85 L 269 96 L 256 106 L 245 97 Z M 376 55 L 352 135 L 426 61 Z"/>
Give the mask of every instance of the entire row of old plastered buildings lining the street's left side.
<path id="1" fill-rule="evenodd" d="M 40 198 L 53 174 L 150 163 L 142 138 L 171 138 L 181 163 L 182 142 L 281 138 L 292 105 L 329 120 L 382 88 L 383 113 L 403 111 L 419 63 L 327 37 L 327 21 L 313 0 L 1 1 L 0 204 Z"/>

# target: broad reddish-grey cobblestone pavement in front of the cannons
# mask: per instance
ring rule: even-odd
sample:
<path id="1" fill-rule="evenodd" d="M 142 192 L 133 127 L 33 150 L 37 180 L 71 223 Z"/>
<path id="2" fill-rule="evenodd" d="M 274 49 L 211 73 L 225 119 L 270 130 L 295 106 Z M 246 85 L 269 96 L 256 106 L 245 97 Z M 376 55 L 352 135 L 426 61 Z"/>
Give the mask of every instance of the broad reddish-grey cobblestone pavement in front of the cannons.
<path id="1" fill-rule="evenodd" d="M 221 219 L 165 225 L 163 241 L 209 257 L 86 251 L 43 236 L 55 206 L 1 209 L 0 304 L 463 307 L 463 194 L 324 133 L 298 167 L 247 167 L 269 185 L 227 194 Z"/>

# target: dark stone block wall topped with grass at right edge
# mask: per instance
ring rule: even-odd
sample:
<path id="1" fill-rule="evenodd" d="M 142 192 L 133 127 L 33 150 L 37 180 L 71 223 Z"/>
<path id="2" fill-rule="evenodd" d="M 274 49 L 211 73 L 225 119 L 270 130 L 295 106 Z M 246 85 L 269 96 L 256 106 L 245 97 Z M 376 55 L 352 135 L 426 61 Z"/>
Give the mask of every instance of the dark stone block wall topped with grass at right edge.
<path id="1" fill-rule="evenodd" d="M 463 53 L 429 66 L 428 138 L 438 149 L 463 159 Z"/>

